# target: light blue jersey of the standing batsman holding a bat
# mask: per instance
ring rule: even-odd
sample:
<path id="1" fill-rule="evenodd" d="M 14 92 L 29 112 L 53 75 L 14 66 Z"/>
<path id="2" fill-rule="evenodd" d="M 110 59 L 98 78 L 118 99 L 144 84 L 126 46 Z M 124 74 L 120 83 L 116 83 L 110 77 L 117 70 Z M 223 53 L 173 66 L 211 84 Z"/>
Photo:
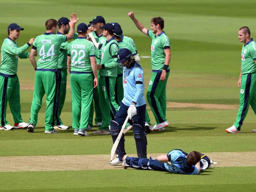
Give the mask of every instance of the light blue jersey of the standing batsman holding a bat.
<path id="1" fill-rule="evenodd" d="M 137 62 L 129 69 L 124 67 L 123 87 L 123 104 L 130 106 L 132 102 L 136 102 L 136 107 L 146 104 L 144 97 L 144 74 Z"/>

